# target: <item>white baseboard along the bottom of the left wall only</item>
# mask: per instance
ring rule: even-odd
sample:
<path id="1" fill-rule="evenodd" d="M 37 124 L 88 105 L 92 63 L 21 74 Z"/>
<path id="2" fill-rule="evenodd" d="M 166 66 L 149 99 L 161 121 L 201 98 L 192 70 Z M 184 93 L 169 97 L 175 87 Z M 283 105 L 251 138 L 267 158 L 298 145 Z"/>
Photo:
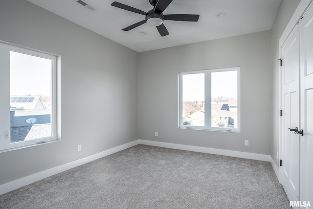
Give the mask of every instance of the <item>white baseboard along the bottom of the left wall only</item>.
<path id="1" fill-rule="evenodd" d="M 53 168 L 41 171 L 39 173 L 35 173 L 32 175 L 23 177 L 21 179 L 17 179 L 15 181 L 5 183 L 3 185 L 0 185 L 0 195 L 7 193 L 9 191 L 12 191 L 14 189 L 20 188 L 22 186 L 26 186 L 26 185 L 32 184 L 34 182 L 37 182 L 39 180 L 45 179 L 49 176 L 53 176 L 55 174 L 58 174 L 58 173 L 61 173 L 63 171 L 69 170 L 71 168 L 77 167 L 79 165 L 89 163 L 89 162 L 97 160 L 99 158 L 103 158 L 105 156 L 111 155 L 115 152 L 119 152 L 121 150 L 130 148 L 132 146 L 137 145 L 138 143 L 139 143 L 139 140 L 134 140 L 132 142 L 122 144 L 122 145 L 117 146 L 117 147 L 113 147 L 113 148 L 108 149 L 106 151 L 99 152 L 99 153 L 96 153 L 94 155 L 90 155 L 90 156 L 87 156 L 85 158 L 78 159 L 76 161 L 65 163 L 63 165 L 59 165 L 57 167 L 53 167 Z"/>

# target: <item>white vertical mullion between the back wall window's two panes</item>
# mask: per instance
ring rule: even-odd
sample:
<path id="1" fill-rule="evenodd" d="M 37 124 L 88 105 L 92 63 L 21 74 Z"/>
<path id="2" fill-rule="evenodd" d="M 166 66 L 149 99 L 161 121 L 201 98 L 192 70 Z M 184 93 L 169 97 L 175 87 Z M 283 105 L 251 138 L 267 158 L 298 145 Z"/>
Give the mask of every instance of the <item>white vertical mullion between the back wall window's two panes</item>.
<path id="1" fill-rule="evenodd" d="M 204 127 L 206 129 L 211 129 L 211 71 L 205 71 L 204 78 Z"/>

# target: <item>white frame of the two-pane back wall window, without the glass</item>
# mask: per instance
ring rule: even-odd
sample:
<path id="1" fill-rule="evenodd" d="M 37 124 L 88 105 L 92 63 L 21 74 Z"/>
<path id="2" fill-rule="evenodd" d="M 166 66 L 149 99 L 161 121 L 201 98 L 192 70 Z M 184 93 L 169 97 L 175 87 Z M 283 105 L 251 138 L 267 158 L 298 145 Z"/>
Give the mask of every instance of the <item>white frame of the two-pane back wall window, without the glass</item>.
<path id="1" fill-rule="evenodd" d="M 211 126 L 211 72 L 223 72 L 223 71 L 234 71 L 237 70 L 237 128 L 229 128 L 229 127 L 212 127 Z M 182 124 L 182 115 L 183 115 L 183 101 L 182 101 L 182 76 L 186 74 L 197 74 L 204 73 L 204 126 L 190 126 Z M 195 129 L 195 130 L 209 130 L 209 131 L 227 131 L 227 132 L 240 132 L 240 118 L 241 118 L 241 110 L 240 110 L 240 67 L 233 68 L 223 68 L 223 69 L 212 69 L 212 70 L 196 70 L 196 71 L 182 71 L 179 72 L 179 118 L 178 118 L 178 128 L 182 129 Z M 209 105 L 207 105 L 209 104 Z"/>

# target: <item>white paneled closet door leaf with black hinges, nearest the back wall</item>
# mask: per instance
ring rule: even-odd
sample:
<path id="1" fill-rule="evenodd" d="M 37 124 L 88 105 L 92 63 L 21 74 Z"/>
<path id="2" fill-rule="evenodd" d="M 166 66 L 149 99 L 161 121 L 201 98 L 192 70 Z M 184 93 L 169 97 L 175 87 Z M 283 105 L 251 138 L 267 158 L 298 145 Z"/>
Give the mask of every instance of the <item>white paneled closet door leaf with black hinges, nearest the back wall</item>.
<path id="1" fill-rule="evenodd" d="M 300 73 L 300 26 L 297 24 L 282 48 L 282 104 L 283 104 L 283 146 L 282 185 L 290 201 L 299 201 L 300 136 L 299 129 L 299 73 Z M 293 209 L 298 207 L 293 207 Z"/>

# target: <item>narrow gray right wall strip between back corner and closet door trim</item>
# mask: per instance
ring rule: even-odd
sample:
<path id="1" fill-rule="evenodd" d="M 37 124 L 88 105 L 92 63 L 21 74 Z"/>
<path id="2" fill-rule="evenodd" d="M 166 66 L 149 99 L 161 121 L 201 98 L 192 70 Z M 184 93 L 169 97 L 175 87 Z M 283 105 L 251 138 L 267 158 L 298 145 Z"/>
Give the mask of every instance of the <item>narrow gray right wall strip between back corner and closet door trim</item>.
<path id="1" fill-rule="evenodd" d="M 272 152 L 271 157 L 278 166 L 279 160 L 276 157 L 279 151 L 279 39 L 284 32 L 287 24 L 289 23 L 291 16 L 301 0 L 282 0 L 278 13 L 276 15 L 271 34 L 271 67 L 272 67 L 272 100 L 273 100 L 273 136 L 272 136 Z"/>

